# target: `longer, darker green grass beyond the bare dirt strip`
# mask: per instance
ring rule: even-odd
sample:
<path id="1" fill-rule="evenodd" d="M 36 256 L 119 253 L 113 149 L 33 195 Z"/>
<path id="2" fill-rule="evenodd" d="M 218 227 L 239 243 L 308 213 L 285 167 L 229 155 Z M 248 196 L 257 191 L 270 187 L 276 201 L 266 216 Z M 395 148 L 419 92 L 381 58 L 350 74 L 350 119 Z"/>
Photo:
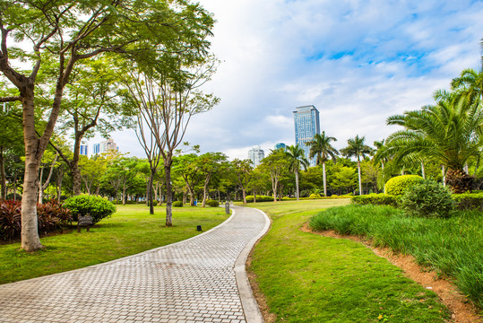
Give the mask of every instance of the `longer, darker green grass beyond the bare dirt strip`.
<path id="1" fill-rule="evenodd" d="M 311 219 L 316 230 L 365 236 L 376 246 L 410 254 L 440 275 L 454 279 L 483 309 L 483 213 L 458 212 L 449 219 L 405 215 L 383 205 L 348 205 Z"/>

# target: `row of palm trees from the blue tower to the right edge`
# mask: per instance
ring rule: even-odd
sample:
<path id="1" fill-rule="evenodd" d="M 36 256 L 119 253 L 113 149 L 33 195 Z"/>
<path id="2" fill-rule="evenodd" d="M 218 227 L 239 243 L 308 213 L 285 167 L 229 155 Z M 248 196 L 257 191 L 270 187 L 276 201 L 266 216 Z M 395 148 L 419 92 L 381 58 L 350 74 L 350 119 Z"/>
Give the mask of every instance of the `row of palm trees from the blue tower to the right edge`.
<path id="1" fill-rule="evenodd" d="M 316 134 L 306 144 L 310 146 L 309 158 L 316 158 L 316 164 L 323 167 L 323 194 L 327 195 L 325 162 L 336 162 L 338 155 L 354 157 L 358 161 L 358 188 L 362 194 L 360 162 L 374 154 L 375 162 L 405 165 L 420 163 L 425 177 L 424 165 L 436 162 L 442 165 L 446 182 L 459 193 L 470 188 L 472 178 L 467 174 L 468 162 L 475 159 L 477 167 L 483 158 L 483 57 L 481 70 L 466 69 L 453 79 L 451 91 L 437 91 L 435 105 L 406 111 L 386 120 L 387 125 L 401 126 L 402 129 L 386 139 L 375 141 L 375 150 L 365 144 L 365 137 L 348 140 L 348 145 L 337 151 L 332 142 L 337 139 L 330 135 Z M 295 173 L 297 197 L 298 171 L 307 168 L 304 149 L 299 145 L 287 147 L 286 155 L 290 170 Z"/>

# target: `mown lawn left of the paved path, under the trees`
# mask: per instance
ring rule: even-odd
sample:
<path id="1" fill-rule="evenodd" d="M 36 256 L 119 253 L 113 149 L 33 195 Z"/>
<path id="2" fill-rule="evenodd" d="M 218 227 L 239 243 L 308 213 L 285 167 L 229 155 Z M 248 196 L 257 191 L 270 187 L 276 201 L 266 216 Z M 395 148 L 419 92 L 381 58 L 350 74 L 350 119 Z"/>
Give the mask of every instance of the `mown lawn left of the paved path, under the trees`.
<path id="1" fill-rule="evenodd" d="M 20 250 L 20 243 L 0 246 L 0 284 L 64 272 L 123 258 L 185 240 L 222 223 L 228 218 L 220 207 L 173 208 L 173 224 L 165 227 L 164 206 L 154 215 L 145 205 L 116 205 L 117 212 L 87 233 L 70 233 L 41 239 L 46 249 L 34 253 Z"/>

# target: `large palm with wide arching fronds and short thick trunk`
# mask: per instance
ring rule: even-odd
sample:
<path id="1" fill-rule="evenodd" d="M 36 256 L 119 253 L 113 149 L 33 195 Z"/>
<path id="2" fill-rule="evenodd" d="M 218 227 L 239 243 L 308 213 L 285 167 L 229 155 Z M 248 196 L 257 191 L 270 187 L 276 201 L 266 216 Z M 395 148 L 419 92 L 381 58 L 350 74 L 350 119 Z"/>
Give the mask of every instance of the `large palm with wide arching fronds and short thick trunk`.
<path id="1" fill-rule="evenodd" d="M 436 92 L 436 105 L 392 116 L 387 124 L 405 128 L 388 137 L 396 162 L 421 157 L 439 162 L 455 193 L 468 189 L 463 168 L 483 146 L 481 104 L 468 104 L 461 92 Z"/>

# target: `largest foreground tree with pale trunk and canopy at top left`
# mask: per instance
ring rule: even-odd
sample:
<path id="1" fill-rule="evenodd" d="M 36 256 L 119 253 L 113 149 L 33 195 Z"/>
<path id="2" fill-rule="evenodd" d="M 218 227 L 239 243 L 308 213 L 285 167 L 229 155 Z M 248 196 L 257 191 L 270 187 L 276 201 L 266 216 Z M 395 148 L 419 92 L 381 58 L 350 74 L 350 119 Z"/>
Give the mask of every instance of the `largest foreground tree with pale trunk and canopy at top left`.
<path id="1" fill-rule="evenodd" d="M 22 249 L 42 248 L 37 226 L 39 162 L 56 126 L 74 66 L 102 53 L 154 57 L 160 49 L 169 50 L 171 44 L 186 37 L 205 37 L 206 23 L 212 25 L 211 15 L 199 4 L 184 0 L 0 2 L 0 72 L 18 89 L 18 95 L 3 97 L 0 102 L 18 100 L 23 109 Z M 31 42 L 30 51 L 22 49 L 24 44 L 18 46 L 27 41 Z M 20 58 L 22 65 L 16 66 L 15 58 Z M 46 61 L 56 62 L 56 86 L 47 123 L 36 129 L 36 89 L 42 87 L 37 76 Z M 30 68 L 25 68 L 27 62 L 31 62 Z"/>

